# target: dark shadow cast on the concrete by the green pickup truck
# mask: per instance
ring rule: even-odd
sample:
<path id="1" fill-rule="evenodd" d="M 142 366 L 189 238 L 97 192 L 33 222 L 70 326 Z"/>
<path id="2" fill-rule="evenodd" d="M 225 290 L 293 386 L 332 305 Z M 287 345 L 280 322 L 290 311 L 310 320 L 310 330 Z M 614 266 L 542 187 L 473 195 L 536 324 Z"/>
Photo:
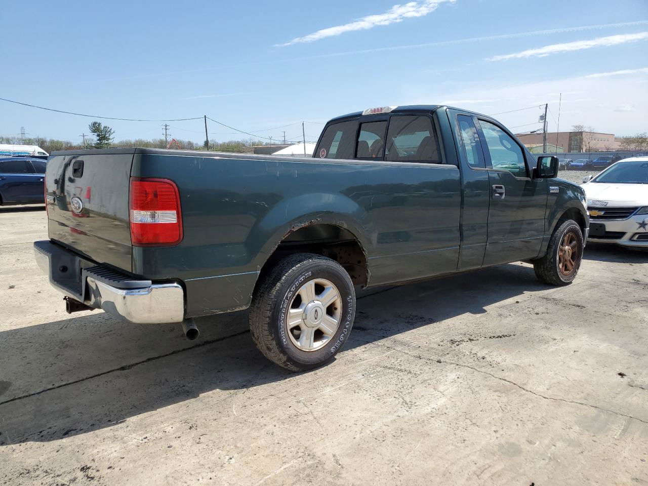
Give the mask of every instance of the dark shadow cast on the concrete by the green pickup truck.
<path id="1" fill-rule="evenodd" d="M 533 269 L 509 264 L 365 292 L 343 353 L 406 330 L 547 290 Z M 0 446 L 85 434 L 220 390 L 295 378 L 268 362 L 247 313 L 203 318 L 197 341 L 179 325 L 129 325 L 102 312 L 0 332 Z M 439 336 L 439 341 L 441 337 Z M 218 410 L 214 410 L 218 413 Z"/>

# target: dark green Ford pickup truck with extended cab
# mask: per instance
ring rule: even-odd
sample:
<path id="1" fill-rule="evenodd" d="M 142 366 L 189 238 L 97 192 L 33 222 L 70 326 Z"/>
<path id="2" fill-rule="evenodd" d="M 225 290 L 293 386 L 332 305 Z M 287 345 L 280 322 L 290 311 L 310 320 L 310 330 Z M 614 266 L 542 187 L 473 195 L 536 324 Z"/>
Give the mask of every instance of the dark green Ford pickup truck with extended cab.
<path id="1" fill-rule="evenodd" d="M 532 262 L 573 281 L 589 218 L 491 117 L 386 106 L 329 121 L 312 158 L 128 148 L 54 152 L 36 260 L 68 312 L 182 323 L 250 308 L 253 340 L 305 370 L 349 339 L 359 288 Z"/>

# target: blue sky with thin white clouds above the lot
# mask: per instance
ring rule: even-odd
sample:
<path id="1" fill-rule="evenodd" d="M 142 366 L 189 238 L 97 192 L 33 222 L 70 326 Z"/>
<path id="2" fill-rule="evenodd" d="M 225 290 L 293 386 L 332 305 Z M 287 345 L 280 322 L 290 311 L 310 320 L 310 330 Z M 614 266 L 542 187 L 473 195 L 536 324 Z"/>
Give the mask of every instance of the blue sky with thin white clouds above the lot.
<path id="1" fill-rule="evenodd" d="M 0 97 L 58 110 L 206 114 L 273 139 L 301 139 L 292 123 L 305 120 L 316 140 L 330 117 L 418 103 L 492 114 L 548 102 L 555 130 L 562 93 L 562 129 L 648 131 L 646 0 L 39 0 L 3 17 Z M 522 132 L 539 114 L 496 118 Z M 0 135 L 25 126 L 76 140 L 91 121 L 0 101 Z M 161 122 L 106 122 L 117 139 L 161 135 Z M 168 124 L 204 139 L 202 120 Z M 209 132 L 247 137 L 213 122 Z"/>

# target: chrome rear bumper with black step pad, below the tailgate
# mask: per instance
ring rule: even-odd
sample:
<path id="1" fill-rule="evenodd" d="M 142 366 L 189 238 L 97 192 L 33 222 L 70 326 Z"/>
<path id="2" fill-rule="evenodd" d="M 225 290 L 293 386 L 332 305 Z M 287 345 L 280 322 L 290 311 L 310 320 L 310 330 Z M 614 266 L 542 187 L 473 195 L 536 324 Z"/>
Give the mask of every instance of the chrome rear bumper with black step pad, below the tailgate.
<path id="1" fill-rule="evenodd" d="M 178 283 L 130 279 L 49 241 L 35 242 L 34 253 L 52 286 L 88 307 L 101 308 L 130 323 L 162 324 L 184 319 L 185 295 Z"/>

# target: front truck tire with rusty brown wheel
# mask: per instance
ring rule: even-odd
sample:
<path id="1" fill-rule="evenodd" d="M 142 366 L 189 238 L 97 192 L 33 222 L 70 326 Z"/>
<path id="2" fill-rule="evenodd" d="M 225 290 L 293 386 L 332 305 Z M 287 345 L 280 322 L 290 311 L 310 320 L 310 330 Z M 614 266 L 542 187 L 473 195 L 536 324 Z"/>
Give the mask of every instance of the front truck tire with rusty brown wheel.
<path id="1" fill-rule="evenodd" d="M 569 285 L 576 278 L 583 259 L 583 233 L 574 220 L 565 220 L 549 240 L 547 254 L 533 261 L 538 280 L 550 285 Z"/>

